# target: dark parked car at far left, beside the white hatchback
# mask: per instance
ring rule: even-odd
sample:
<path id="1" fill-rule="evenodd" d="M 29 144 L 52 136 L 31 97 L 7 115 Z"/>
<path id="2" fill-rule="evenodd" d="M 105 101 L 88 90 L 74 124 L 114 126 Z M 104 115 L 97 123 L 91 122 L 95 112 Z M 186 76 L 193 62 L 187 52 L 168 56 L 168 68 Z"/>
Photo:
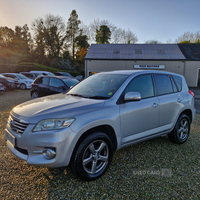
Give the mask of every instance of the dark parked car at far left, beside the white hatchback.
<path id="1" fill-rule="evenodd" d="M 0 74 L 0 83 L 4 86 L 6 90 L 14 90 L 19 87 L 19 81 L 14 78 L 8 78 Z"/>

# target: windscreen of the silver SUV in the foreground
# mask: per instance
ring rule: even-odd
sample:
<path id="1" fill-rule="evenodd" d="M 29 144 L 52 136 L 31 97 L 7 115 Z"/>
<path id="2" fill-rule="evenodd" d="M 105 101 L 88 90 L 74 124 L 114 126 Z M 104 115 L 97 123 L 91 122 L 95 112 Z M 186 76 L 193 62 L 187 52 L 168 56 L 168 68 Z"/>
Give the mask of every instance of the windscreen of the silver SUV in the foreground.
<path id="1" fill-rule="evenodd" d="M 67 94 L 93 99 L 109 99 L 127 77 L 122 74 L 95 74 L 77 84 Z"/>

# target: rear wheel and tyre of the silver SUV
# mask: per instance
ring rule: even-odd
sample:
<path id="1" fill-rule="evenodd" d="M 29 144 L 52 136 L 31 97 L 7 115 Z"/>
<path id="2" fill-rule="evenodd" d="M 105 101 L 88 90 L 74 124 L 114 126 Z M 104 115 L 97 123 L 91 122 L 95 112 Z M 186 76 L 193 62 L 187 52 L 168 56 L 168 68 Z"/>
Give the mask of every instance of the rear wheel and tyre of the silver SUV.
<path id="1" fill-rule="evenodd" d="M 168 138 L 171 142 L 176 144 L 183 144 L 187 141 L 190 133 L 190 119 L 187 115 L 182 114 L 171 133 L 168 134 Z"/>

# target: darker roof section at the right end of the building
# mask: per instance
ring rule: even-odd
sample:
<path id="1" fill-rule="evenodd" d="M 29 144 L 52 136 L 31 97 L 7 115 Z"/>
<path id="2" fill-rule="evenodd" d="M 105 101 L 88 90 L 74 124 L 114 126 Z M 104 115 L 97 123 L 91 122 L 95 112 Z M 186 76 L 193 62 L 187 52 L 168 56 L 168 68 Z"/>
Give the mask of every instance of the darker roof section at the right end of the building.
<path id="1" fill-rule="evenodd" d="M 200 44 L 178 44 L 187 60 L 200 60 Z"/>

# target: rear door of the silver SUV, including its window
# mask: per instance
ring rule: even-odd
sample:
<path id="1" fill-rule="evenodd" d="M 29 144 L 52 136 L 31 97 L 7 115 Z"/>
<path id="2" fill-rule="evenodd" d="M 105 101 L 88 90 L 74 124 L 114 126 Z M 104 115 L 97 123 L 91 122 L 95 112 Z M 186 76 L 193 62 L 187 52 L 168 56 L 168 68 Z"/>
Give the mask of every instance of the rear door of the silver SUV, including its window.
<path id="1" fill-rule="evenodd" d="M 166 74 L 154 74 L 156 83 L 156 93 L 159 98 L 160 122 L 162 130 L 171 129 L 177 115 L 179 114 L 184 101 L 181 94 L 182 79 L 176 76 L 177 82 L 173 76 Z"/>

